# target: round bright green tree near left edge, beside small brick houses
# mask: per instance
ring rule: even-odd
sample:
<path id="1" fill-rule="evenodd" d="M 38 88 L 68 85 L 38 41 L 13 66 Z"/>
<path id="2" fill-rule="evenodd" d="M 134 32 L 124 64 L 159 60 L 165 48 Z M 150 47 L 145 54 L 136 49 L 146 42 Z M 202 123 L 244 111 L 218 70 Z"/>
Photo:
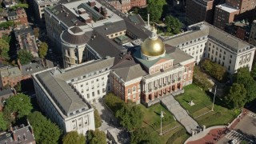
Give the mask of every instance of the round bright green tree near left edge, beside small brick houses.
<path id="1" fill-rule="evenodd" d="M 6 106 L 4 111 L 6 114 L 13 115 L 14 118 L 22 118 L 31 113 L 33 109 L 32 104 L 30 103 L 29 96 L 25 94 L 17 94 L 13 97 L 10 97 L 6 100 Z"/>

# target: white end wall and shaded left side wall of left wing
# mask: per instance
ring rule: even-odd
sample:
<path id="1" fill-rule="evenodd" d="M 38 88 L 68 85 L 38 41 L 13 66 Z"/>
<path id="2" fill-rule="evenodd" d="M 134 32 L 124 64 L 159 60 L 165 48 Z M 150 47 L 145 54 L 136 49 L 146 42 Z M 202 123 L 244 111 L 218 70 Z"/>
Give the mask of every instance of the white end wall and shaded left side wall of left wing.
<path id="1" fill-rule="evenodd" d="M 34 90 L 38 100 L 38 105 L 51 121 L 58 124 L 64 132 L 77 130 L 79 134 L 86 134 L 87 130 L 95 130 L 94 109 L 79 110 L 78 113 L 68 116 L 62 113 L 62 110 L 55 104 L 54 100 L 44 90 L 41 83 L 34 76 Z M 81 99 L 82 101 L 82 99 Z"/>

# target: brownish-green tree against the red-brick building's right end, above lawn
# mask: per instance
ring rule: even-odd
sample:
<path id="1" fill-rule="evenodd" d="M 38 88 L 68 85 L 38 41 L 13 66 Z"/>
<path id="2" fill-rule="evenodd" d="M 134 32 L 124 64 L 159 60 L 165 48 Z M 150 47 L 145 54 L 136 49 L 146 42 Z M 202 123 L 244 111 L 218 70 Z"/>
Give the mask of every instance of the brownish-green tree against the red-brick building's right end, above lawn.
<path id="1" fill-rule="evenodd" d="M 202 73 L 198 66 L 194 66 L 193 82 L 202 90 L 209 90 L 213 84 L 208 81 L 207 75 Z"/>

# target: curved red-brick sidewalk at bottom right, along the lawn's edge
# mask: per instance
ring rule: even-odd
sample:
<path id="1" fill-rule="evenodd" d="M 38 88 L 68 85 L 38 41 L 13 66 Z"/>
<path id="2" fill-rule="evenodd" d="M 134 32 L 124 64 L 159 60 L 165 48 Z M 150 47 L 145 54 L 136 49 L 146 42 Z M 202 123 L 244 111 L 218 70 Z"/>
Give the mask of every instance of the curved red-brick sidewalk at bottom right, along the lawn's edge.
<path id="1" fill-rule="evenodd" d="M 246 115 L 246 112 L 248 110 L 243 109 L 242 113 L 238 118 L 235 118 L 234 121 L 230 124 L 229 129 L 234 129 L 234 126 L 237 126 L 238 122 L 240 122 L 240 119 L 243 118 L 244 115 Z M 217 143 L 219 139 L 223 138 L 226 133 L 225 131 L 227 126 L 213 126 L 207 128 L 205 131 L 203 131 L 200 134 L 194 135 L 194 137 L 190 137 L 186 140 L 186 144 L 204 144 L 204 143 Z"/>

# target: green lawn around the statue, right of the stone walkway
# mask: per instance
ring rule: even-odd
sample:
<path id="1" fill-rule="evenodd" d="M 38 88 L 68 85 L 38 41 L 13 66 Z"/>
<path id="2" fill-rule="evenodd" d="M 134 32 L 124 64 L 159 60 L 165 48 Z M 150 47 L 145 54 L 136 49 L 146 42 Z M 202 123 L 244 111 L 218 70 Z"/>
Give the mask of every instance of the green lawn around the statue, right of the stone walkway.
<path id="1" fill-rule="evenodd" d="M 226 125 L 236 116 L 234 110 L 229 110 L 226 107 L 221 106 L 222 101 L 215 98 L 214 112 L 210 112 L 197 118 L 199 115 L 211 110 L 213 96 L 210 97 L 194 84 L 185 86 L 184 90 L 185 93 L 178 95 L 175 99 L 190 112 L 191 116 L 198 121 L 199 125 L 205 125 L 206 127 Z M 195 103 L 194 106 L 188 104 L 191 99 L 193 99 L 193 102 Z"/>

